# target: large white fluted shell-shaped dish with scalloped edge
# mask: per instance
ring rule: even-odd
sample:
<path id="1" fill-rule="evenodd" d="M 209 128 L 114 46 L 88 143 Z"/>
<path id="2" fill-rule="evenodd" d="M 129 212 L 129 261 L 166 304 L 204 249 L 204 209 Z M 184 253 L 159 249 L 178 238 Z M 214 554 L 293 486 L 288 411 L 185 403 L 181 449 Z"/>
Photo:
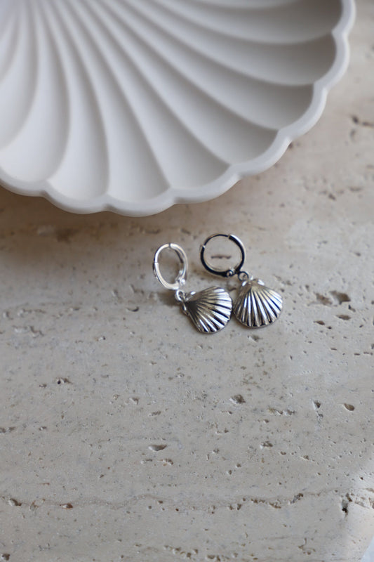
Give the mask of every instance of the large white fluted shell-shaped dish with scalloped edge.
<path id="1" fill-rule="evenodd" d="M 347 66 L 353 0 L 0 0 L 0 183 L 154 214 L 272 166 Z"/>

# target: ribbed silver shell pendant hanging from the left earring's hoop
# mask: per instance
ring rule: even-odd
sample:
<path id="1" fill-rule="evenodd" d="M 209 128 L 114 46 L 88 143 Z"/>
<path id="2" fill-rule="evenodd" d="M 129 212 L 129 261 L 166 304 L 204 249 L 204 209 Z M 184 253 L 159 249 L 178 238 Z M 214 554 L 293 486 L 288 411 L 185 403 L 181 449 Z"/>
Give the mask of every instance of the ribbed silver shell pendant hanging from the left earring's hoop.
<path id="1" fill-rule="evenodd" d="M 204 334 L 218 332 L 231 318 L 232 299 L 222 287 L 184 294 L 181 303 L 183 312 Z"/>

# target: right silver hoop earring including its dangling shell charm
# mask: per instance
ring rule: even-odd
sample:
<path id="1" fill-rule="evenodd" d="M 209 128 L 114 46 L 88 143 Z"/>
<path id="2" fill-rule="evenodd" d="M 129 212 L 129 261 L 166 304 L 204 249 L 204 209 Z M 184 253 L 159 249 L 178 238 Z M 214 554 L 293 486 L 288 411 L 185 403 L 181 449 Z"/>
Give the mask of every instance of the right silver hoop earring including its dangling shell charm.
<path id="1" fill-rule="evenodd" d="M 239 247 L 241 257 L 239 263 L 234 268 L 219 270 L 206 262 L 206 247 L 216 237 L 228 238 L 228 240 L 234 242 Z M 246 250 L 243 242 L 238 237 L 232 234 L 213 234 L 209 236 L 201 246 L 200 259 L 209 273 L 220 275 L 221 277 L 238 276 L 241 287 L 236 301 L 234 301 L 232 312 L 241 324 L 248 328 L 260 328 L 272 324 L 279 318 L 283 306 L 281 295 L 273 291 L 273 289 L 265 287 L 265 284 L 260 279 L 254 279 L 253 276 L 242 270 L 246 259 Z"/>

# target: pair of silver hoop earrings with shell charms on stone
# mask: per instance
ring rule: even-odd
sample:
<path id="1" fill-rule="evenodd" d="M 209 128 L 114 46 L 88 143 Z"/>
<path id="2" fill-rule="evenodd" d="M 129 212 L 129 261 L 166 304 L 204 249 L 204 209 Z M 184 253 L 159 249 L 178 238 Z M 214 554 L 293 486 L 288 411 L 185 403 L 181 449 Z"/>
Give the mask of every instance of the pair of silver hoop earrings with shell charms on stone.
<path id="1" fill-rule="evenodd" d="M 215 269 L 206 261 L 206 248 L 217 237 L 227 238 L 239 248 L 240 259 L 233 268 Z M 161 252 L 171 249 L 175 251 L 180 262 L 180 270 L 174 282 L 168 282 L 161 275 L 159 256 Z M 203 242 L 200 249 L 203 267 L 213 275 L 220 277 L 238 277 L 241 282 L 239 293 L 233 303 L 231 296 L 222 287 L 208 287 L 199 292 L 186 293 L 182 290 L 187 280 L 188 260 L 185 250 L 178 244 L 168 243 L 159 247 L 154 254 L 153 270 L 157 279 L 166 289 L 175 292 L 175 299 L 181 304 L 182 311 L 192 320 L 196 329 L 204 334 L 214 334 L 224 328 L 232 314 L 241 324 L 248 328 L 260 328 L 275 322 L 282 310 L 281 296 L 243 270 L 246 250 L 243 242 L 232 234 L 213 234 Z"/>

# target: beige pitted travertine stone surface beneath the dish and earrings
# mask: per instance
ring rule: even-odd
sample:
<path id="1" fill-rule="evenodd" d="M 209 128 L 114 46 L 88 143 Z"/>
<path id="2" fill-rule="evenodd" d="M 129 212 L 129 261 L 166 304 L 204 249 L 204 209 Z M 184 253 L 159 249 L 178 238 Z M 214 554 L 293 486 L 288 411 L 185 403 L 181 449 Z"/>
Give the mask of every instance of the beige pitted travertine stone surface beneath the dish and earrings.
<path id="1" fill-rule="evenodd" d="M 359 561 L 374 534 L 373 24 L 359 2 L 319 124 L 213 202 L 76 216 L 0 190 L 0 559 Z M 173 241 L 188 287 L 219 284 L 198 249 L 220 230 L 281 292 L 274 326 L 203 336 L 152 275 Z"/>

